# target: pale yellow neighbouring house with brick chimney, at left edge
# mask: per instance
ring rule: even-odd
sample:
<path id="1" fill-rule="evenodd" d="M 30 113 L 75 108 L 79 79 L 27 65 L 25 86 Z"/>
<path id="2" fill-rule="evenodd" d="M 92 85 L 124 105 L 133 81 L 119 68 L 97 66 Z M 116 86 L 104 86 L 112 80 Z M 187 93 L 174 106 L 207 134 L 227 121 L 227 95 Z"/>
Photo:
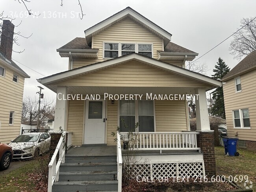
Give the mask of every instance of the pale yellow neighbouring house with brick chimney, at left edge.
<path id="1" fill-rule="evenodd" d="M 3 20 L 0 44 L 0 142 L 9 143 L 20 134 L 25 78 L 30 78 L 11 59 L 14 25 Z"/>

